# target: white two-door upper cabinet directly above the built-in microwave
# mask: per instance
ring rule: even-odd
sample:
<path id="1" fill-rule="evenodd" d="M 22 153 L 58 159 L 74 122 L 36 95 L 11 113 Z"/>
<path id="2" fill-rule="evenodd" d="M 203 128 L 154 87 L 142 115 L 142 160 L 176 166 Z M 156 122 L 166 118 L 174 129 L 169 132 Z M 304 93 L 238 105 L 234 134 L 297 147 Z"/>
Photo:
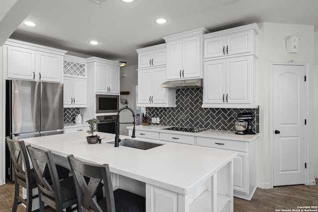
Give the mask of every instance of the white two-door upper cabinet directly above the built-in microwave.
<path id="1" fill-rule="evenodd" d="M 120 94 L 120 64 L 118 62 L 91 57 L 87 58 L 89 82 L 96 94 Z"/>

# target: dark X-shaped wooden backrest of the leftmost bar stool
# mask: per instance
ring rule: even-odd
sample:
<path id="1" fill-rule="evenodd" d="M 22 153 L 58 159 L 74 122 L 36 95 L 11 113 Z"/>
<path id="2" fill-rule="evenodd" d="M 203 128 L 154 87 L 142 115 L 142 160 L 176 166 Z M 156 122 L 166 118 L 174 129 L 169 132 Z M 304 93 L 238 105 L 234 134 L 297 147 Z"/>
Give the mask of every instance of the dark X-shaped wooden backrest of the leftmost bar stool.
<path id="1" fill-rule="evenodd" d="M 15 179 L 31 185 L 31 168 L 24 141 L 14 141 L 9 137 L 6 137 L 5 140 L 10 152 Z"/>

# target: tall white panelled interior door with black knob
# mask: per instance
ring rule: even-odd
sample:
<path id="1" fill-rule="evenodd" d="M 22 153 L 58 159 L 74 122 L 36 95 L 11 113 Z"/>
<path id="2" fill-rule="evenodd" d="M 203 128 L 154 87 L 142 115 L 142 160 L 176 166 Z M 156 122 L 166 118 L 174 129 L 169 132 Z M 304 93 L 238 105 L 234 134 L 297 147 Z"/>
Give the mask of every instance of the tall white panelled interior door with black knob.
<path id="1" fill-rule="evenodd" d="M 273 186 L 305 184 L 305 66 L 273 65 Z"/>

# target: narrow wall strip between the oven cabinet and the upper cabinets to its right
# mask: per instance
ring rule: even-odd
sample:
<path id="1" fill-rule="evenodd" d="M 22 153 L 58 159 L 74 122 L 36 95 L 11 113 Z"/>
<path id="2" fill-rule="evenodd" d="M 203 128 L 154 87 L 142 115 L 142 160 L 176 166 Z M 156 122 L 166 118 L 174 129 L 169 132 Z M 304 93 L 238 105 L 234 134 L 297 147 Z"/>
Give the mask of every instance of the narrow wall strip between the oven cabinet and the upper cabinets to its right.
<path id="1" fill-rule="evenodd" d="M 138 81 L 138 74 L 137 74 L 138 65 L 130 65 L 124 66 L 120 68 L 120 91 L 129 91 L 129 95 L 121 95 L 122 98 L 127 99 L 128 106 L 136 110 L 136 105 L 134 105 L 133 99 L 135 98 L 133 92 L 133 85 L 137 84 Z M 126 75 L 126 77 L 122 77 L 122 75 Z M 120 122 L 133 122 L 133 114 L 128 110 L 123 110 L 120 112 Z M 128 135 L 127 126 L 131 126 L 133 124 L 120 124 L 120 134 L 121 135 Z"/>

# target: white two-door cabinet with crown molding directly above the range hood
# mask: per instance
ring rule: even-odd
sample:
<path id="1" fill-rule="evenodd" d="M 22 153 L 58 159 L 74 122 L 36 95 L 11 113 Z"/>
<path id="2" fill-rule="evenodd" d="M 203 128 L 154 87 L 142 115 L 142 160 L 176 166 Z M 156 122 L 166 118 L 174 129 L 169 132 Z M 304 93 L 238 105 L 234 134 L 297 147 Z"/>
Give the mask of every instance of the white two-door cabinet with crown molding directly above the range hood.
<path id="1" fill-rule="evenodd" d="M 205 28 L 164 36 L 167 80 L 202 78 L 202 35 Z"/>

